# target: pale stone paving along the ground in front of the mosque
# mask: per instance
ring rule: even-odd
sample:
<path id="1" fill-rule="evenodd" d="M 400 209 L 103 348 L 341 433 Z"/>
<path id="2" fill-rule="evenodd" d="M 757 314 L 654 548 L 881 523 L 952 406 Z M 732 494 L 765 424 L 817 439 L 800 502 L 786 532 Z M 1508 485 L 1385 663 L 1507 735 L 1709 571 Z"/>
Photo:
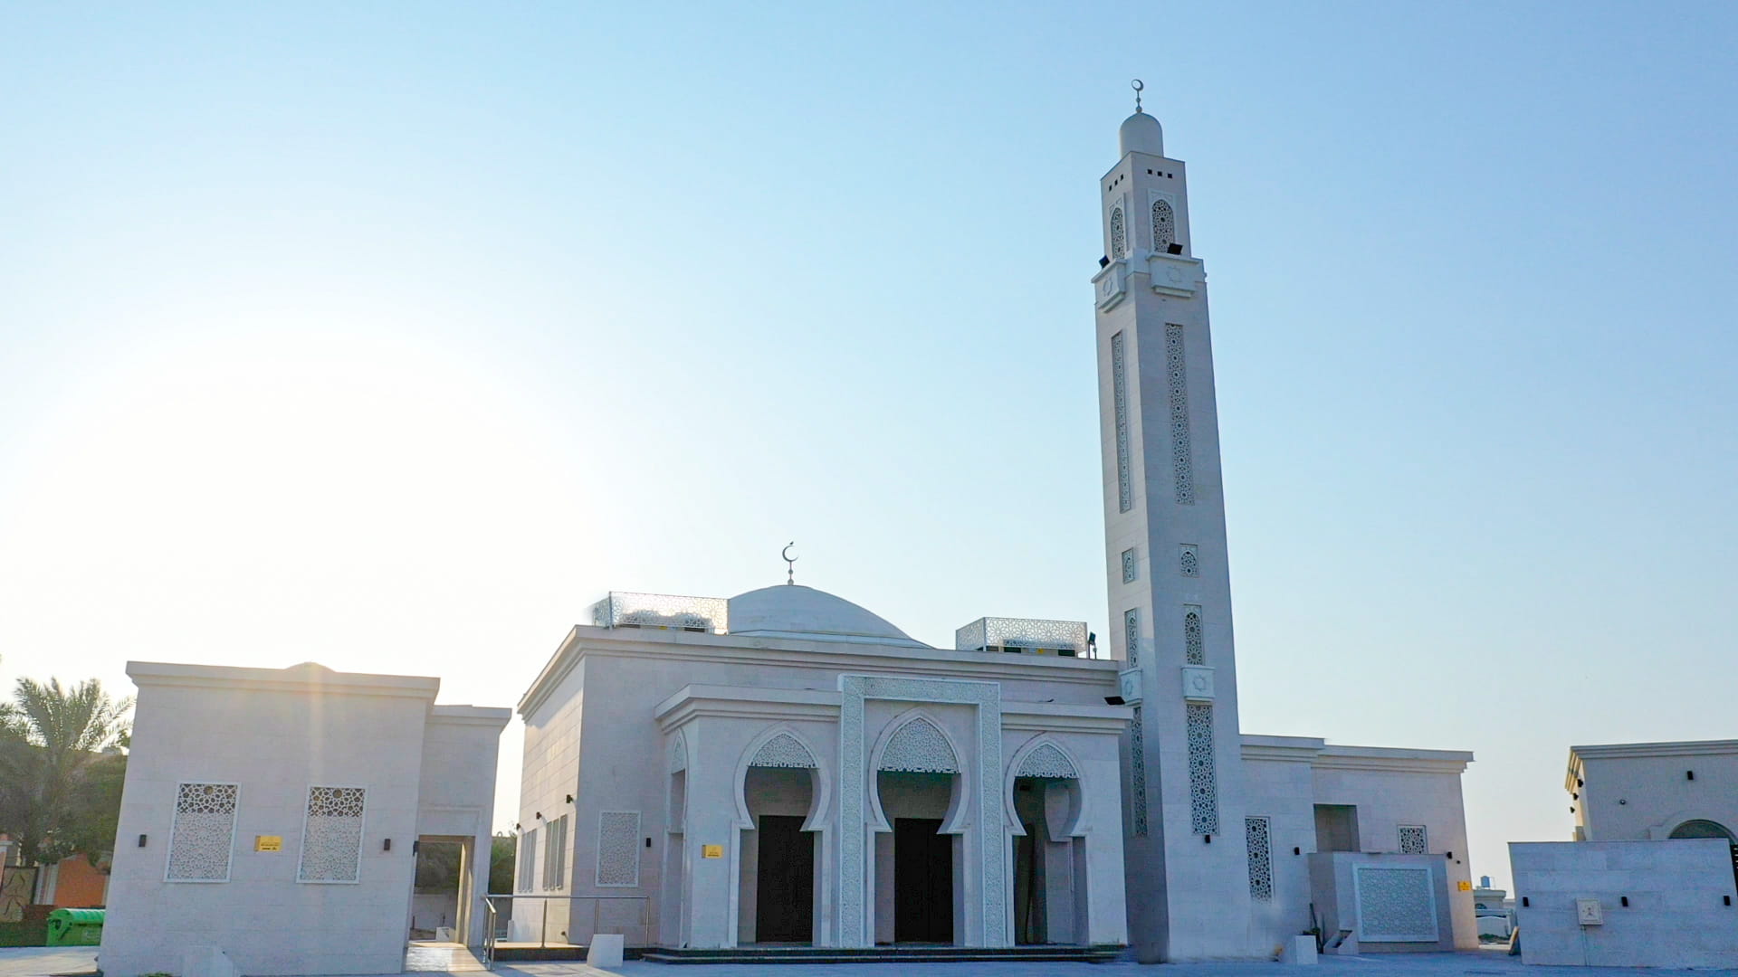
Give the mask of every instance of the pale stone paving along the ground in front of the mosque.
<path id="1" fill-rule="evenodd" d="M 89 974 L 96 968 L 96 947 L 21 947 L 0 949 L 0 977 L 47 977 L 50 974 Z M 1137 963 L 780 963 L 671 967 L 629 961 L 608 970 L 584 963 L 501 965 L 506 977 L 1137 977 Z M 1738 977 L 1733 970 L 1644 970 L 1627 967 L 1522 967 L 1519 958 L 1502 951 L 1324 956 L 1310 970 L 1293 970 L 1277 963 L 1171 963 L 1149 970 L 1154 977 Z M 379 975 L 391 977 L 391 975 Z"/>

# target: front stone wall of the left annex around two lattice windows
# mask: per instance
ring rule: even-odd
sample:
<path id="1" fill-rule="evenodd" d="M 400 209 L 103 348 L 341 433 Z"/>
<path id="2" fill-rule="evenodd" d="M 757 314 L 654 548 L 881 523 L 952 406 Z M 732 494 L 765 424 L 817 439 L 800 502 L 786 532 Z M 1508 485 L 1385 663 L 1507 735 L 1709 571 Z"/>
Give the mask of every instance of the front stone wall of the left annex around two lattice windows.
<path id="1" fill-rule="evenodd" d="M 179 972 L 191 944 L 222 947 L 245 974 L 396 974 L 433 695 L 433 687 L 414 699 L 141 683 L 104 974 Z M 181 781 L 240 784 L 229 881 L 163 881 Z M 309 784 L 368 789 L 358 883 L 295 881 Z M 254 852 L 255 834 L 282 836 L 283 850 Z"/>

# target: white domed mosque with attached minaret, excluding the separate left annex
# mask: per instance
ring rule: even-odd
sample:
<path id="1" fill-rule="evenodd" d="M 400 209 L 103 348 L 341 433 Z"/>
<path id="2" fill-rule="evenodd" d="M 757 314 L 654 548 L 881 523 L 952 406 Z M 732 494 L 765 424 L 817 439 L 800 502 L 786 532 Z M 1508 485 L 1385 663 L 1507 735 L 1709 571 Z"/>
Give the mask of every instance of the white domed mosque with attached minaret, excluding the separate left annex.
<path id="1" fill-rule="evenodd" d="M 1138 104 L 1119 139 L 1093 276 L 1107 647 L 980 617 L 937 648 L 798 584 L 612 593 L 518 706 L 514 939 L 1477 946 L 1470 753 L 1243 734 L 1187 172 Z"/>

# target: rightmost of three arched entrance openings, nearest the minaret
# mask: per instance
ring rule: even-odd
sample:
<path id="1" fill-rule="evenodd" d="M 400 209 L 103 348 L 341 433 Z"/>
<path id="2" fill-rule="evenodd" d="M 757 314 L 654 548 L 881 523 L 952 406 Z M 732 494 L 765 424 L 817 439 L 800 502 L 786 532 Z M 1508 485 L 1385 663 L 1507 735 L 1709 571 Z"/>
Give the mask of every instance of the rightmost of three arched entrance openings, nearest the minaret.
<path id="1" fill-rule="evenodd" d="M 1013 942 L 1074 944 L 1086 934 L 1086 847 L 1074 838 L 1081 815 L 1079 774 L 1039 744 L 1013 777 Z"/>

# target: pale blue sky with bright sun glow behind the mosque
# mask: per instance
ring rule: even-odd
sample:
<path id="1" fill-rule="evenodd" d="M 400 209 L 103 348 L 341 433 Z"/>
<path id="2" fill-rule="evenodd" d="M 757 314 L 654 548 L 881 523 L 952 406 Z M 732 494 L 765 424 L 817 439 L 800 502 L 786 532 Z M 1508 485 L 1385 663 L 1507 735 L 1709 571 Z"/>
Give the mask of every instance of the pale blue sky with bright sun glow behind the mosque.
<path id="1" fill-rule="evenodd" d="M 1729 739 L 1738 7 L 0 2 L 0 687 L 518 701 L 607 589 L 1105 633 L 1128 80 L 1213 289 L 1243 728 Z M 516 808 L 518 728 L 497 824 Z"/>

